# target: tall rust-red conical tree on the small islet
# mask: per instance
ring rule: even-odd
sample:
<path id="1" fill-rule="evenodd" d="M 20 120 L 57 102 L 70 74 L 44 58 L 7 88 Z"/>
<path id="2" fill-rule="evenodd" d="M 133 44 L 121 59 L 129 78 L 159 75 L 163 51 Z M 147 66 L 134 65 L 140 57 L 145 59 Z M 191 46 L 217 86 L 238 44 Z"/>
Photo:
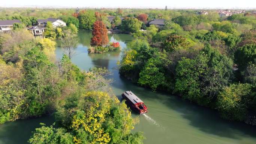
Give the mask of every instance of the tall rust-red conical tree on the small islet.
<path id="1" fill-rule="evenodd" d="M 109 38 L 107 37 L 107 28 L 102 21 L 94 22 L 92 35 L 92 46 L 106 46 L 109 42 Z"/>

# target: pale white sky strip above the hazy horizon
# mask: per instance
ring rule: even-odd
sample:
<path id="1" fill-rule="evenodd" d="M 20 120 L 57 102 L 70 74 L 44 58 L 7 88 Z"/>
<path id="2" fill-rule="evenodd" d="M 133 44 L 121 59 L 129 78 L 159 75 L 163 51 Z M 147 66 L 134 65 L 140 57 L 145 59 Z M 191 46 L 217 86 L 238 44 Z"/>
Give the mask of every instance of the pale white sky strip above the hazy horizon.
<path id="1" fill-rule="evenodd" d="M 256 0 L 0 0 L 0 7 L 256 8 Z"/>

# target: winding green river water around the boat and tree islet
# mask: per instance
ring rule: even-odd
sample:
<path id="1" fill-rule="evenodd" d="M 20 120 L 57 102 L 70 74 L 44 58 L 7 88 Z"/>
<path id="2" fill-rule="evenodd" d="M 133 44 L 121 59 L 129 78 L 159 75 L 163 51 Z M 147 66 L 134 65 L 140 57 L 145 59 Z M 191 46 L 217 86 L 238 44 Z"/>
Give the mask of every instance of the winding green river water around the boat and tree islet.
<path id="1" fill-rule="evenodd" d="M 112 88 L 121 99 L 124 91 L 131 90 L 140 97 L 149 108 L 146 114 L 139 116 L 140 123 L 133 131 L 143 131 L 144 144 L 256 144 L 256 127 L 244 123 L 228 122 L 219 117 L 216 111 L 183 101 L 177 96 L 163 92 L 152 92 L 119 76 L 117 62 L 121 52 L 88 54 L 91 33 L 79 31 L 79 45 L 72 62 L 82 70 L 90 67 L 106 67 L 113 73 Z M 111 42 L 119 42 L 122 48 L 133 38 L 127 34 L 110 34 Z M 63 49 L 56 49 L 57 59 Z M 27 144 L 34 128 L 43 122 L 50 125 L 54 116 L 30 120 L 17 120 L 0 125 L 0 144 Z"/>

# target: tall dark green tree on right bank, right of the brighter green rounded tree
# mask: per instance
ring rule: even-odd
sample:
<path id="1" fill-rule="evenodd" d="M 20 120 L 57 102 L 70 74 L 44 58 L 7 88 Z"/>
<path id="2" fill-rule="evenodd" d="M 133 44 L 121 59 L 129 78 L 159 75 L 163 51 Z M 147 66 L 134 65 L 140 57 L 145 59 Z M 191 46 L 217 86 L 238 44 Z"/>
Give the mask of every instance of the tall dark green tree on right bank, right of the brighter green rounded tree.
<path id="1" fill-rule="evenodd" d="M 209 59 L 208 68 L 201 81 L 201 90 L 205 105 L 215 101 L 223 87 L 228 86 L 233 79 L 233 61 L 222 55 L 217 49 L 206 45 L 203 52 Z"/>

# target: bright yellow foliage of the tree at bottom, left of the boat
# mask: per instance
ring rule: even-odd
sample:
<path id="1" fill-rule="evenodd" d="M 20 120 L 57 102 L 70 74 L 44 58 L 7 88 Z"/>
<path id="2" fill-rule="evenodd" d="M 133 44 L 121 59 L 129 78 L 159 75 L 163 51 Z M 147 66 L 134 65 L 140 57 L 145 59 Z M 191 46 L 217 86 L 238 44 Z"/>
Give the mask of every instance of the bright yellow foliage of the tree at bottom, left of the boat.
<path id="1" fill-rule="evenodd" d="M 87 92 L 79 101 L 79 107 L 84 111 L 82 117 L 73 116 L 71 128 L 78 130 L 83 128 L 93 136 L 90 144 L 107 144 L 110 141 L 108 133 L 102 128 L 106 115 L 110 113 L 110 96 L 105 92 Z M 74 142 L 79 144 L 79 138 L 74 137 Z"/>

